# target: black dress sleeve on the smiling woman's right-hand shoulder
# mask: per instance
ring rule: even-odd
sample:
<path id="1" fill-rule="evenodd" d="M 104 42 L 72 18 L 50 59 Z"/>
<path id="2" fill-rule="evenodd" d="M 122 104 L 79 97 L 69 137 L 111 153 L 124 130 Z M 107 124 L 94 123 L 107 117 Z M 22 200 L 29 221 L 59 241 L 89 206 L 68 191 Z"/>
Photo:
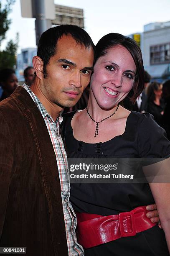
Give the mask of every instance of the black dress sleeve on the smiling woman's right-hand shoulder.
<path id="1" fill-rule="evenodd" d="M 170 141 L 166 137 L 166 132 L 149 113 L 139 116 L 137 139 L 140 158 L 170 157 Z"/>

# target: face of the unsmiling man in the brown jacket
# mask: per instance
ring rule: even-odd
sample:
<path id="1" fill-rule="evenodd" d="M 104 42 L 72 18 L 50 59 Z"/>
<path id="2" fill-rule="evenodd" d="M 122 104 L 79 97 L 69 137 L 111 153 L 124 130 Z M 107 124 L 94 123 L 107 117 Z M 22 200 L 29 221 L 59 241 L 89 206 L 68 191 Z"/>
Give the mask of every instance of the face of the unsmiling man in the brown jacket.
<path id="1" fill-rule="evenodd" d="M 77 44 L 72 36 L 62 36 L 56 54 L 47 67 L 47 78 L 41 80 L 41 92 L 49 104 L 72 107 L 90 82 L 94 51 Z"/>

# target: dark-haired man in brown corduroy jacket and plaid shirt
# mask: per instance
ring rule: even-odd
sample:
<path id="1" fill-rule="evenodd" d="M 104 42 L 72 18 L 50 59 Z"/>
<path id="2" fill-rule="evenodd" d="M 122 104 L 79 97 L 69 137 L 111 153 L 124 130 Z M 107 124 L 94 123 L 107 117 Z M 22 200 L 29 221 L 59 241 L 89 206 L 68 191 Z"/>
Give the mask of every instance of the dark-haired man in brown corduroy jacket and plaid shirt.
<path id="1" fill-rule="evenodd" d="M 84 255 L 69 202 L 60 115 L 89 84 L 94 44 L 77 26 L 50 28 L 33 58 L 36 77 L 0 103 L 0 247 L 27 255 Z"/>

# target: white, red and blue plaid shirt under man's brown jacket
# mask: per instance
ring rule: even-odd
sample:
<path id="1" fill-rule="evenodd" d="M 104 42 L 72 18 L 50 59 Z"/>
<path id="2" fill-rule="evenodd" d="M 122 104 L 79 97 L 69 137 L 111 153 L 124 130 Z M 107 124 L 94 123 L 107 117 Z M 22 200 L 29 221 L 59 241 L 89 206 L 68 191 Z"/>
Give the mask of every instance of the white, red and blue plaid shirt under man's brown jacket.
<path id="1" fill-rule="evenodd" d="M 71 203 L 69 202 L 70 197 L 70 183 L 69 183 L 69 169 L 67 163 L 67 155 L 64 149 L 63 141 L 60 134 L 60 124 L 63 120 L 62 116 L 59 115 L 56 122 L 53 120 L 51 115 L 48 114 L 47 110 L 44 108 L 38 97 L 30 90 L 26 84 L 23 84 L 23 88 L 29 93 L 30 97 L 33 99 L 38 109 L 40 110 L 44 121 L 46 123 L 48 133 L 53 144 L 53 149 L 56 154 L 60 184 L 61 184 L 61 198 L 63 203 L 63 213 L 64 221 L 66 227 L 66 238 L 67 246 L 69 251 L 69 256 L 83 256 L 84 251 L 82 246 L 77 243 L 76 238 L 76 215 L 72 208 Z"/>

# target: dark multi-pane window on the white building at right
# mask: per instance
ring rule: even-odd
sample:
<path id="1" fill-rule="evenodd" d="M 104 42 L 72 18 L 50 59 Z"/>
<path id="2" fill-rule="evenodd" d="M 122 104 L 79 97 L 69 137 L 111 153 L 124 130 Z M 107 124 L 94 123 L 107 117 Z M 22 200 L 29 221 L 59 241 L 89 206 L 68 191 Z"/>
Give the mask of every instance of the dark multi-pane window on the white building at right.
<path id="1" fill-rule="evenodd" d="M 170 62 L 170 43 L 150 46 L 150 64 Z"/>

